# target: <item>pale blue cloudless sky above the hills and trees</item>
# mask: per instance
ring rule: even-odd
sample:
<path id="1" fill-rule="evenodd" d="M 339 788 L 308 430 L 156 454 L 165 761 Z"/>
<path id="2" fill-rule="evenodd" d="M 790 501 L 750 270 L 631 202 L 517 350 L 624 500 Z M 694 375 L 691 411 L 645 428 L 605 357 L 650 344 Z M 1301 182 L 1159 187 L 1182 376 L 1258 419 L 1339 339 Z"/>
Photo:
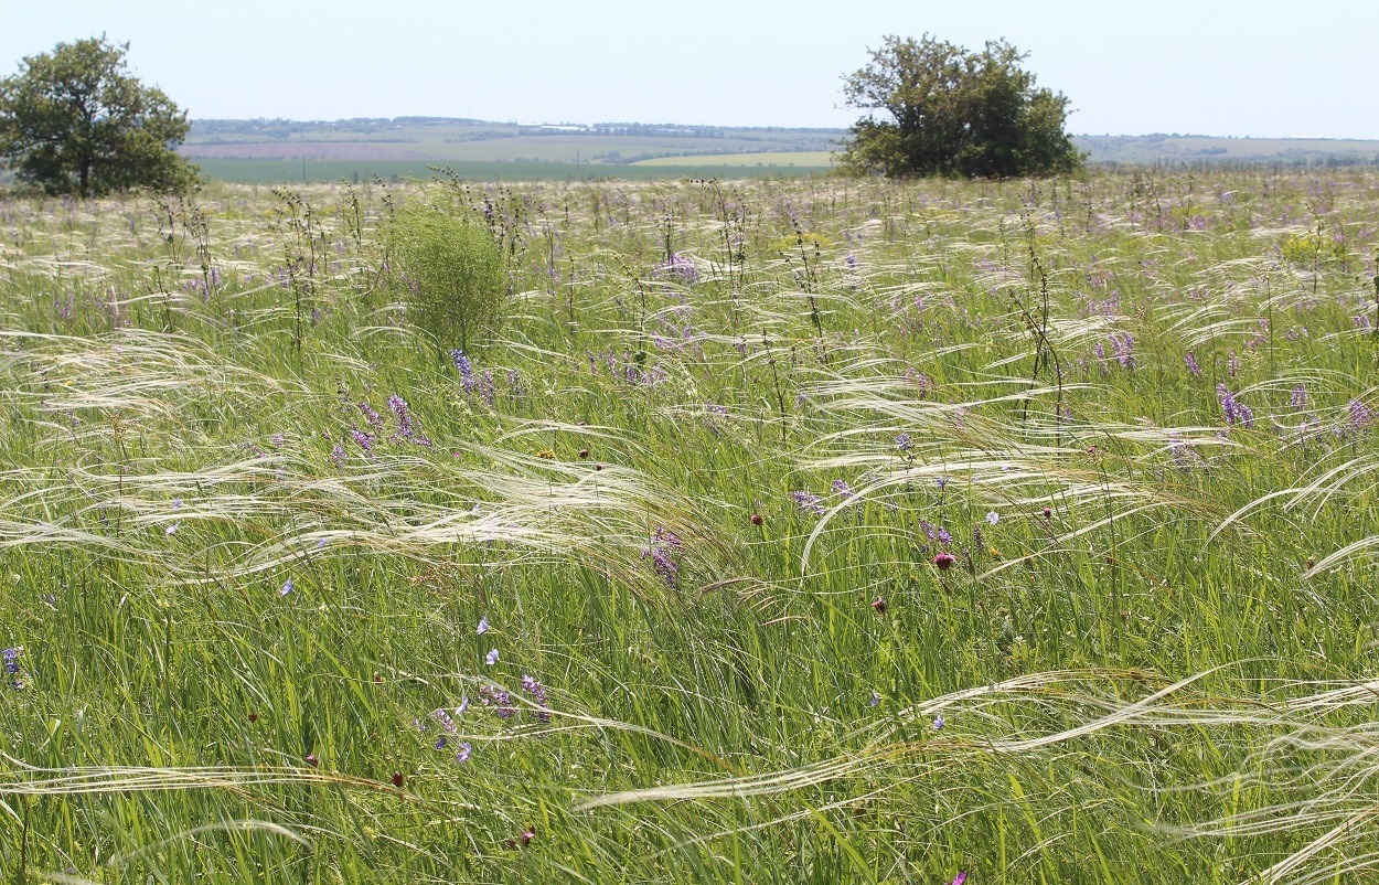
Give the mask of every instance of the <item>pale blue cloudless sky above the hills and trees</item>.
<path id="1" fill-rule="evenodd" d="M 1373 0 L 0 0 L 0 76 L 105 34 L 192 119 L 847 127 L 885 34 L 1004 37 L 1067 130 L 1379 139 Z"/>

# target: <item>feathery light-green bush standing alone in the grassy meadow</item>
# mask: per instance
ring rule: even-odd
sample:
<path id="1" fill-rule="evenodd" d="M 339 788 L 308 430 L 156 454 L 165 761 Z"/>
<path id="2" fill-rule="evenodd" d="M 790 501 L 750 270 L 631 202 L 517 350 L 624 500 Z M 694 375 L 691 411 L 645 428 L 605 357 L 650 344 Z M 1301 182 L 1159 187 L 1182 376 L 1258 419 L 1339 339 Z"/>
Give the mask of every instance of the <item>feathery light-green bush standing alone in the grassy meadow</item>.
<path id="1" fill-rule="evenodd" d="M 408 320 L 432 335 L 437 347 L 469 350 L 498 329 L 506 306 L 503 259 L 476 212 L 408 203 L 393 215 L 387 248 L 405 291 Z"/>

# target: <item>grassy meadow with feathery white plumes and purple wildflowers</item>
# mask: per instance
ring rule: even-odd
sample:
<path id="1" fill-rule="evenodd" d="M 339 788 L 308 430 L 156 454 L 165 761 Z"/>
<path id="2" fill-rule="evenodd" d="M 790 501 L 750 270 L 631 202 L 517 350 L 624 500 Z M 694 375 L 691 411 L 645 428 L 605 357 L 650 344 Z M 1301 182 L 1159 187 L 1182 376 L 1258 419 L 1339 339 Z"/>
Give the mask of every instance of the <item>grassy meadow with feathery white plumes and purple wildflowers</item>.
<path id="1" fill-rule="evenodd" d="M 1373 881 L 1376 194 L 0 200 L 0 877 Z"/>

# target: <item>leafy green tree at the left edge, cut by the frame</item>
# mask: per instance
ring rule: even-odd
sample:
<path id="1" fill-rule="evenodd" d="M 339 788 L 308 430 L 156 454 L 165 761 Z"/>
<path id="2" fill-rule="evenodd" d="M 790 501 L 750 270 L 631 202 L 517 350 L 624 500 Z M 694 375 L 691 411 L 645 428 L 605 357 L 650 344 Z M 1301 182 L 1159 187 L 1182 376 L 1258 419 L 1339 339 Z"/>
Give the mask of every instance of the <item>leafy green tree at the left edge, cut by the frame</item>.
<path id="1" fill-rule="evenodd" d="M 0 80 L 0 160 L 51 194 L 181 192 L 196 167 L 172 146 L 190 124 L 161 90 L 130 76 L 130 45 L 59 43 Z"/>

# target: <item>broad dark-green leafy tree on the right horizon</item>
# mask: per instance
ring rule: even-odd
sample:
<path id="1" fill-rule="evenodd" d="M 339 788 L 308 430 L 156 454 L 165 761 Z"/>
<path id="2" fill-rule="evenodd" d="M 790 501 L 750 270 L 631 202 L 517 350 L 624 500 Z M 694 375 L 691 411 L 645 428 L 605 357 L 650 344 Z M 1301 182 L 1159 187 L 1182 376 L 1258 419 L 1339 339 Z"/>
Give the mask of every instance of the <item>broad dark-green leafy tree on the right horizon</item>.
<path id="1" fill-rule="evenodd" d="M 852 108 L 844 171 L 894 178 L 1056 175 L 1081 167 L 1063 131 L 1067 98 L 1034 88 L 1027 57 L 994 40 L 980 52 L 935 40 L 888 36 L 872 62 L 843 77 Z"/>

